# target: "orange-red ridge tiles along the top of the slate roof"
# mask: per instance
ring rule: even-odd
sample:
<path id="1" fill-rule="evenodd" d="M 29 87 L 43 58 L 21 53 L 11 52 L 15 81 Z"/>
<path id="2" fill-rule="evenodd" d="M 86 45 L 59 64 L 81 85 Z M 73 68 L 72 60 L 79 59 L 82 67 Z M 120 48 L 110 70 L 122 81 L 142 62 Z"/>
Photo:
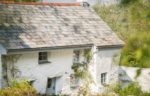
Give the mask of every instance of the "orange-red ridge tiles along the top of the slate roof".
<path id="1" fill-rule="evenodd" d="M 49 5 L 49 6 L 80 6 L 80 3 L 48 3 L 48 2 L 14 2 L 14 1 L 0 1 L 0 4 L 20 4 L 20 5 Z"/>

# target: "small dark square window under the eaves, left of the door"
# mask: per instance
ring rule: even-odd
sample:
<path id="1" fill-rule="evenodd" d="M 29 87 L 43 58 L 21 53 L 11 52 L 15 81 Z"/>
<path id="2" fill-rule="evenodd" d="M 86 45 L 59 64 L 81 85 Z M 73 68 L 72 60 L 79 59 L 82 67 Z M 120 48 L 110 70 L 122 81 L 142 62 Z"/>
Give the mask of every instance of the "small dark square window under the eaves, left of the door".
<path id="1" fill-rule="evenodd" d="M 47 52 L 39 52 L 39 64 L 48 63 Z"/>

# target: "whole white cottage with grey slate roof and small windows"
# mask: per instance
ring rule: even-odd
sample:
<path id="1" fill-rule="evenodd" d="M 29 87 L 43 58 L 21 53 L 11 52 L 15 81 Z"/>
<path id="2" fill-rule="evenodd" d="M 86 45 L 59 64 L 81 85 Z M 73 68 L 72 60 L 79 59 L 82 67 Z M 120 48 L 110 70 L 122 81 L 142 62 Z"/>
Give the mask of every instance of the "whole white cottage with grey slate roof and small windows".
<path id="1" fill-rule="evenodd" d="M 72 65 L 92 53 L 93 91 L 117 81 L 123 42 L 91 9 L 79 4 L 0 4 L 0 87 L 28 80 L 39 93 L 70 94 Z"/>

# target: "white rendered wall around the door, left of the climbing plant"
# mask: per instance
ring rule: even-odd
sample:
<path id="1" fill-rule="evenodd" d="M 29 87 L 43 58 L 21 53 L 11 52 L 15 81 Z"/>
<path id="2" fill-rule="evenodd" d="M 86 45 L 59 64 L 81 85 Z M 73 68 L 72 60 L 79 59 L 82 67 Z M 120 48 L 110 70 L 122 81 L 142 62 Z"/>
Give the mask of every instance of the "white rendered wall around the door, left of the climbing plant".
<path id="1" fill-rule="evenodd" d="M 70 76 L 73 50 L 57 50 L 48 54 L 51 63 L 38 64 L 38 52 L 23 54 L 15 64 L 20 70 L 20 76 L 27 79 L 35 79 L 34 87 L 40 93 L 46 92 L 47 78 L 57 78 L 56 93 L 63 88 L 64 78 Z"/>

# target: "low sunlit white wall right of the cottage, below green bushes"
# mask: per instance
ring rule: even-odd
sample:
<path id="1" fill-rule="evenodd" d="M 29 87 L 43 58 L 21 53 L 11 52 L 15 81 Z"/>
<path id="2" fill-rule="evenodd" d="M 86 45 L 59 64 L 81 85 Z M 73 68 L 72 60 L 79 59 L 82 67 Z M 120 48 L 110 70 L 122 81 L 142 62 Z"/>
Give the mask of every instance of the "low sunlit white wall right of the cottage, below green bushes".
<path id="1" fill-rule="evenodd" d="M 139 83 L 143 91 L 150 92 L 150 68 L 143 68 L 140 76 L 135 78 L 137 69 L 136 67 L 121 67 L 120 74 L 122 74 L 121 70 L 126 73 L 125 76 L 120 77 L 120 80 L 124 80 L 122 81 L 124 82 L 123 86 L 129 84 L 131 81 L 135 81 Z"/>

